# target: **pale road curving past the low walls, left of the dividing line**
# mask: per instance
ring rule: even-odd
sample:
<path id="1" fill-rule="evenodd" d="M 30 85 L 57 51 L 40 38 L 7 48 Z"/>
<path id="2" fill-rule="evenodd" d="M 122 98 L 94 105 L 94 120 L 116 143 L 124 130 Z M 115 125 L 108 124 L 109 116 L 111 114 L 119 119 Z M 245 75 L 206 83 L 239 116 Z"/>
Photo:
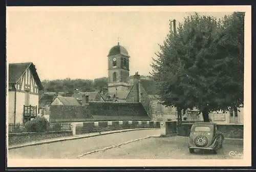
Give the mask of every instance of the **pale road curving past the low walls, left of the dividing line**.
<path id="1" fill-rule="evenodd" d="M 96 137 L 67 140 L 49 144 L 27 146 L 8 151 L 8 158 L 69 158 L 74 159 L 79 155 L 104 148 L 114 144 L 139 139 L 146 136 L 159 135 L 160 129 L 137 130 L 123 133 L 107 134 Z"/>

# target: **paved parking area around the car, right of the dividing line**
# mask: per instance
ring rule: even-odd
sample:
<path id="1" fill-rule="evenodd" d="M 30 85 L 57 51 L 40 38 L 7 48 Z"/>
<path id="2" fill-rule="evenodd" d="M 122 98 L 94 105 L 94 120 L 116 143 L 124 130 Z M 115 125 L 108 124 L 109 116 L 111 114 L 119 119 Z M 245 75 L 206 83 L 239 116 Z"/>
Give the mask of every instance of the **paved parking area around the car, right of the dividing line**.
<path id="1" fill-rule="evenodd" d="M 229 155 L 230 152 L 233 156 Z M 147 138 L 119 148 L 89 154 L 80 159 L 239 159 L 242 158 L 240 153 L 243 153 L 242 140 L 225 140 L 223 149 L 219 150 L 217 155 L 210 151 L 196 151 L 190 154 L 187 149 L 187 137 L 174 136 Z"/>

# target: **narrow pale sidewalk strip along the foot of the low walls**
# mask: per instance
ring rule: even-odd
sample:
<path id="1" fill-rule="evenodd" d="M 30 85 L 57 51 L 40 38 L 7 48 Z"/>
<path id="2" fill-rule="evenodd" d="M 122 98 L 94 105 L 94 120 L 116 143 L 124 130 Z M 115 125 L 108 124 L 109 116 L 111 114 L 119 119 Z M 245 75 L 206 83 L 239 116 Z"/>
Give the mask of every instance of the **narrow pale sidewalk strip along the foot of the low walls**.
<path id="1" fill-rule="evenodd" d="M 74 139 L 79 139 L 79 138 L 94 137 L 94 136 L 112 134 L 112 133 L 122 133 L 122 132 L 134 131 L 134 130 L 155 130 L 155 129 L 152 129 L 152 128 L 124 129 L 124 130 L 104 131 L 104 132 L 101 132 L 100 134 L 99 134 L 99 132 L 97 132 L 97 133 L 79 134 L 79 135 L 75 135 L 75 136 L 57 137 L 57 138 L 52 138 L 52 139 L 44 139 L 44 140 L 31 141 L 31 142 L 22 143 L 22 144 L 10 145 L 10 146 L 8 146 L 8 150 L 22 148 L 25 146 L 47 144 L 47 143 L 53 143 L 53 142 L 58 142 L 58 141 L 65 141 L 65 140 L 74 140 Z"/>

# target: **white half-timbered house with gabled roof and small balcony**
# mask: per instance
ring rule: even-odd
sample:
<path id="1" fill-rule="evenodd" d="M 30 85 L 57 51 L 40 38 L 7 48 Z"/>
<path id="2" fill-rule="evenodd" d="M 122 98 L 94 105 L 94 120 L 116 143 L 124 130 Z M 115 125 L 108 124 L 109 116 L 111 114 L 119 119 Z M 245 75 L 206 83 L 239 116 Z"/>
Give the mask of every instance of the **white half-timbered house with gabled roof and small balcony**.
<path id="1" fill-rule="evenodd" d="M 38 114 L 41 81 L 32 62 L 10 63 L 8 78 L 8 122 L 24 124 Z"/>

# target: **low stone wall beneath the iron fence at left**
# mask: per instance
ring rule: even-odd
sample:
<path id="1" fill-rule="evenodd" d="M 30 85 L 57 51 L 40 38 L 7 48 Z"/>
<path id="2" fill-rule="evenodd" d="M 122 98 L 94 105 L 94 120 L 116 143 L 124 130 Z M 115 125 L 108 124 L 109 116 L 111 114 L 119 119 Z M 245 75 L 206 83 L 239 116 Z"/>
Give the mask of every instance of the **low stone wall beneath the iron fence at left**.
<path id="1" fill-rule="evenodd" d="M 40 132 L 40 133 L 10 133 L 8 134 L 8 144 L 20 144 L 30 141 L 56 138 L 56 137 L 65 137 L 71 136 L 72 131 L 52 131 L 52 132 Z"/>

